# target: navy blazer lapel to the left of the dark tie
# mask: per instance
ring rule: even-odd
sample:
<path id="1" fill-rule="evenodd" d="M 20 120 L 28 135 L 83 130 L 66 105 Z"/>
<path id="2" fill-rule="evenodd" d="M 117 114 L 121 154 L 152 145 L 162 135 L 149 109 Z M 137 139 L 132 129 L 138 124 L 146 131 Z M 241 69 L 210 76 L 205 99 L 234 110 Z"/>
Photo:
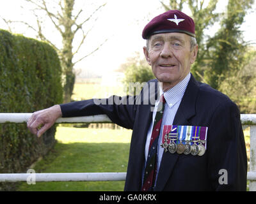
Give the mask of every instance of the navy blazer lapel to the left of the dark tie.
<path id="1" fill-rule="evenodd" d="M 157 80 L 152 80 L 152 83 L 155 84 L 154 89 L 150 89 L 149 84 L 147 84 L 148 87 L 143 87 L 143 92 L 140 95 L 139 101 L 141 101 L 141 105 L 138 105 L 140 110 L 137 110 L 138 115 L 136 115 L 136 122 L 132 132 L 125 191 L 141 190 L 142 173 L 145 167 L 145 143 L 148 128 L 152 122 L 152 110 L 154 110 L 154 104 L 150 102 L 153 102 L 154 99 L 152 98 L 156 98 L 158 94 Z M 147 97 L 145 97 L 146 102 L 143 101 L 145 94 L 147 94 Z M 150 97 L 152 98 L 150 99 Z"/>

